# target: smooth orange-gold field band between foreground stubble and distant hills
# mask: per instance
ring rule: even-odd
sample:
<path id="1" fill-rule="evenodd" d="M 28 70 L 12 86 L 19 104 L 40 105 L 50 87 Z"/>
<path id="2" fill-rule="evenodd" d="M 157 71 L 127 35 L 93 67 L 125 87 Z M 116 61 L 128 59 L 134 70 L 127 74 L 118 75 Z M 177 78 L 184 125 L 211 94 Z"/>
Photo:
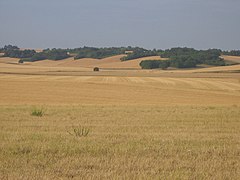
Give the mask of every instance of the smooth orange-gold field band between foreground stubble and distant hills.
<path id="1" fill-rule="evenodd" d="M 240 104 L 239 79 L 0 76 L 0 104 Z"/>

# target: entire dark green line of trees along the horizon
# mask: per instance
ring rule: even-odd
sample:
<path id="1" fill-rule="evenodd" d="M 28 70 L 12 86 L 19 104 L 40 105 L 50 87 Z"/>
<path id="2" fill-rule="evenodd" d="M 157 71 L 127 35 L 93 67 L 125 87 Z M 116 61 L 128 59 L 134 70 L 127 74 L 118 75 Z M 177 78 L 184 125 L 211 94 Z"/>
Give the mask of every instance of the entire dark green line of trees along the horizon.
<path id="1" fill-rule="evenodd" d="M 191 68 L 199 64 L 223 66 L 225 62 L 220 58 L 222 54 L 240 56 L 240 50 L 221 51 L 220 49 L 196 50 L 193 48 L 171 48 L 166 50 L 147 50 L 140 47 L 109 47 L 109 48 L 95 48 L 95 47 L 81 47 L 74 49 L 45 49 L 43 52 L 35 52 L 34 50 L 20 50 L 17 46 L 6 45 L 0 49 L 0 52 L 5 53 L 4 56 L 20 58 L 20 62 L 24 61 L 40 61 L 44 59 L 61 60 L 68 57 L 74 59 L 81 58 L 96 58 L 102 59 L 114 55 L 125 54 L 129 52 L 122 61 L 132 60 L 141 57 L 161 56 L 168 58 L 164 61 L 142 61 L 141 67 L 143 69 L 162 68 L 168 67 L 176 68 Z"/>

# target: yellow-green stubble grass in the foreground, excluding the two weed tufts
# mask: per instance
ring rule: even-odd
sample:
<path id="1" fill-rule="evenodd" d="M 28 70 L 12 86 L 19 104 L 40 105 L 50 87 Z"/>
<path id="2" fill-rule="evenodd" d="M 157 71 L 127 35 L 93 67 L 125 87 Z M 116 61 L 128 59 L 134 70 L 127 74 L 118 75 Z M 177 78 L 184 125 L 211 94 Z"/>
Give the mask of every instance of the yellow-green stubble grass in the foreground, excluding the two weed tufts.
<path id="1" fill-rule="evenodd" d="M 0 179 L 238 179 L 240 107 L 0 106 Z M 86 137 L 68 133 L 90 129 Z"/>

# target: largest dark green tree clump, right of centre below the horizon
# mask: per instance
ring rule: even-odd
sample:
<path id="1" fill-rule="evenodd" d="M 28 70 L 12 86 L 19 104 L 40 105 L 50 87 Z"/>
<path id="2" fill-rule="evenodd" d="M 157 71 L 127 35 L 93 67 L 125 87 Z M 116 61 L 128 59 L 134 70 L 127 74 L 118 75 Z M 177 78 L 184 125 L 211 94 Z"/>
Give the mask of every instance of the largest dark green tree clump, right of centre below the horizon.
<path id="1" fill-rule="evenodd" d="M 172 48 L 162 52 L 161 57 L 169 58 L 165 61 L 142 61 L 140 66 L 143 69 L 167 69 L 175 68 L 193 68 L 199 64 L 224 66 L 225 61 L 220 58 L 221 50 L 195 50 L 192 48 Z"/>

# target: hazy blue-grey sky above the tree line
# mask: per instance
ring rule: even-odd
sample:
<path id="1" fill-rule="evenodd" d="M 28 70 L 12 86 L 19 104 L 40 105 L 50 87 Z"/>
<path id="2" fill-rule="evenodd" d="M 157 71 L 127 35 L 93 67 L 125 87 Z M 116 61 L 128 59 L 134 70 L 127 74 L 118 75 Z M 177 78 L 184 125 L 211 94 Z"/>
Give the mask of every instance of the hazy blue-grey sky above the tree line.
<path id="1" fill-rule="evenodd" d="M 0 47 L 240 49 L 240 0 L 0 0 Z"/>

